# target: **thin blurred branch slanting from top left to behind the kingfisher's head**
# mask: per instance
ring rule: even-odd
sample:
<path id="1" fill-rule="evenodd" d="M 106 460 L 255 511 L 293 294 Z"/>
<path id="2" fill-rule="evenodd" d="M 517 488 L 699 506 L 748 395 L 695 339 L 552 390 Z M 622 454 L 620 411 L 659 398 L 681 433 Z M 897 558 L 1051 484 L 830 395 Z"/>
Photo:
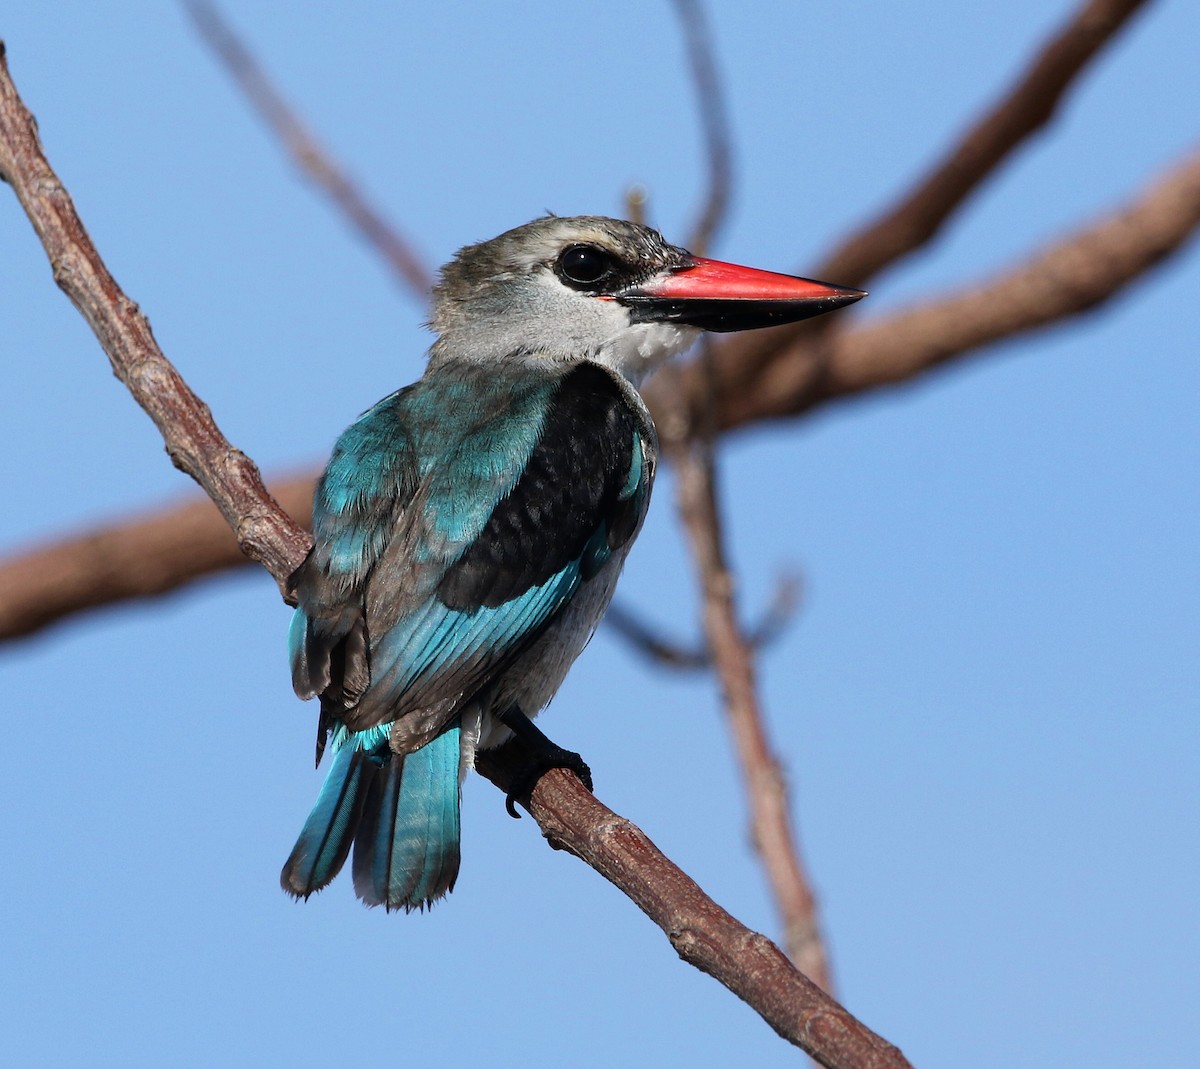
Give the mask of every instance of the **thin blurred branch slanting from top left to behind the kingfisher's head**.
<path id="1" fill-rule="evenodd" d="M 317 144 L 217 8 L 208 0 L 184 0 L 184 6 L 200 36 L 288 150 L 296 167 L 324 190 L 367 244 L 384 258 L 396 278 L 418 300 L 427 301 L 433 281 L 413 252 L 412 245 L 367 202 L 362 191 Z"/>

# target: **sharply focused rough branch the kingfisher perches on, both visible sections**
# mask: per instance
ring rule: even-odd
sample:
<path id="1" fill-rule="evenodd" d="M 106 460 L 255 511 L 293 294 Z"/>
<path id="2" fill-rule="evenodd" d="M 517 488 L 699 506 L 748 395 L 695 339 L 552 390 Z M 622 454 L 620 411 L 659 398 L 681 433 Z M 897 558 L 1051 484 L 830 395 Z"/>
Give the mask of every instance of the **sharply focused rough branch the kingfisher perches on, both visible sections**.
<path id="1" fill-rule="evenodd" d="M 162 355 L 144 317 L 104 268 L 42 152 L 34 116 L 8 76 L 2 42 L 0 178 L 12 185 L 54 265 L 55 278 L 88 319 L 119 377 L 155 420 L 176 464 L 218 502 L 239 541 L 282 588 L 304 559 L 308 535 L 266 493 L 253 464 L 221 436 L 203 402 Z M 581 794 L 590 803 L 582 811 Z M 722 911 L 658 855 L 642 833 L 624 822 L 614 825 L 616 818 L 593 803 L 572 776 L 544 776 L 526 804 L 556 845 L 588 860 L 652 915 L 685 960 L 720 979 L 821 1064 L 846 1069 L 907 1065 L 895 1047 L 808 984 L 778 950 L 773 953 L 763 936 L 732 918 L 726 923 Z M 622 857 L 623 851 L 635 857 Z M 638 864 L 630 865 L 630 860 Z"/>

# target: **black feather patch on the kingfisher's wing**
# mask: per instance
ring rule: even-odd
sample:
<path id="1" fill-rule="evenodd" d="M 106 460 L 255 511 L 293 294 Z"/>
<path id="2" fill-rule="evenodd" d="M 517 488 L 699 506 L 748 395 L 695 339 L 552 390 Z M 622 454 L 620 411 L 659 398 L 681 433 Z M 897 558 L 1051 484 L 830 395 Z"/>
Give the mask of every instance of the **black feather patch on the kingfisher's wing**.
<path id="1" fill-rule="evenodd" d="M 494 608 L 578 560 L 593 539 L 604 537 L 606 549 L 629 541 L 644 508 L 642 493 L 622 496 L 637 432 L 606 371 L 583 364 L 566 374 L 526 470 L 439 583 L 442 602 L 463 612 Z M 583 577 L 595 570 L 584 561 Z"/>

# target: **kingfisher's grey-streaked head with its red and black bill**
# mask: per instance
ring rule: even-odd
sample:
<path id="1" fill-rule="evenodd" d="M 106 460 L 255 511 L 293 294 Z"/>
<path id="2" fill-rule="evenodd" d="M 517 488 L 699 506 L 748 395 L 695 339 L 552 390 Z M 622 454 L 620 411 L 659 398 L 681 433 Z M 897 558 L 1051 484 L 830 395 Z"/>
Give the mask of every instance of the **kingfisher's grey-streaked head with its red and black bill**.
<path id="1" fill-rule="evenodd" d="M 862 296 L 692 256 L 636 223 L 546 216 L 443 268 L 431 359 L 588 359 L 637 382 L 701 330 L 794 323 Z"/>

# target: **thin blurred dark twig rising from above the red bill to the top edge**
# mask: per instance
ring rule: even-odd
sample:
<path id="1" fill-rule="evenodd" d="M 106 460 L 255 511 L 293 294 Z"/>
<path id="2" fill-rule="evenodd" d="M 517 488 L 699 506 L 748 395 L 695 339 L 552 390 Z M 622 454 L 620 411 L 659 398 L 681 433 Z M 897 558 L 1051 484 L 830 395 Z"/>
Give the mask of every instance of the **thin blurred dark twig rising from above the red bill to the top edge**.
<path id="1" fill-rule="evenodd" d="M 713 242 L 713 235 L 725 221 L 730 208 L 733 161 L 730 122 L 725 97 L 716 77 L 713 55 L 713 31 L 700 0 L 674 0 L 676 12 L 688 40 L 688 62 L 696 88 L 696 107 L 704 131 L 704 154 L 708 160 L 708 193 L 696 227 L 688 239 L 688 248 L 701 254 Z"/>

